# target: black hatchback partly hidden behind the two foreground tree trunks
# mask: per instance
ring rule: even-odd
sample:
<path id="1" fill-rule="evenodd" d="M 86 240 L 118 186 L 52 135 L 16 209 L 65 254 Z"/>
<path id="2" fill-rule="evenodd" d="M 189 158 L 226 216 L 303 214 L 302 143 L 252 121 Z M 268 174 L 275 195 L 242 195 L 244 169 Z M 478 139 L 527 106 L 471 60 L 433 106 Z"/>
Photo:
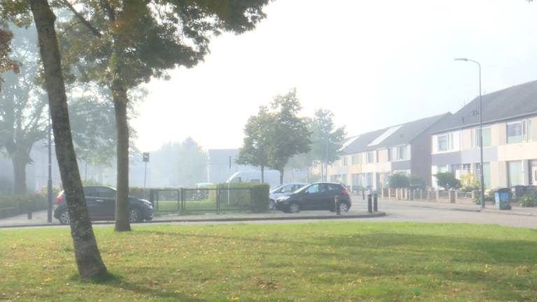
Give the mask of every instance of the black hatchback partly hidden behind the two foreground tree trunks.
<path id="1" fill-rule="evenodd" d="M 114 220 L 115 219 L 115 188 L 103 186 L 84 187 L 87 211 L 91 220 Z M 69 213 L 64 192 L 60 192 L 54 217 L 61 224 L 69 224 Z M 137 199 L 129 196 L 129 222 L 143 222 L 153 219 L 153 206 L 145 199 Z"/>

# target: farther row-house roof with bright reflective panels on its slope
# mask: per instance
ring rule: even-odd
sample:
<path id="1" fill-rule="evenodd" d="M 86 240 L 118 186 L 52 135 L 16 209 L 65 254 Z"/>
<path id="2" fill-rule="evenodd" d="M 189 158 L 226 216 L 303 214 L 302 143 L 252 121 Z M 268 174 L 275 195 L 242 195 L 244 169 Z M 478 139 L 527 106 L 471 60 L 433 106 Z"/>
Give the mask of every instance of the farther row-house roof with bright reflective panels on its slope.
<path id="1" fill-rule="evenodd" d="M 450 115 L 451 113 L 444 113 L 433 117 L 425 117 L 406 124 L 399 124 L 366 134 L 360 134 L 354 138 L 352 143 L 343 148 L 343 153 L 355 154 L 382 148 L 391 148 L 398 145 L 407 145 L 424 131 L 429 131 L 432 125 Z"/>

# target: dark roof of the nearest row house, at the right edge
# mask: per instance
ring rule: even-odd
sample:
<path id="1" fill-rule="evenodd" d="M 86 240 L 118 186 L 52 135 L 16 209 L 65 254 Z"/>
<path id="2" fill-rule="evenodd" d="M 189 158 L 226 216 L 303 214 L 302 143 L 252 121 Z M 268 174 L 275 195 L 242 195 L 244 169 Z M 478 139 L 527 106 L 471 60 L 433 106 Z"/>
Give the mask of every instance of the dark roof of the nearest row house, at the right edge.
<path id="1" fill-rule="evenodd" d="M 537 115 L 537 80 L 482 96 L 483 123 Z M 479 124 L 479 96 L 433 127 L 432 133 L 475 127 Z"/>

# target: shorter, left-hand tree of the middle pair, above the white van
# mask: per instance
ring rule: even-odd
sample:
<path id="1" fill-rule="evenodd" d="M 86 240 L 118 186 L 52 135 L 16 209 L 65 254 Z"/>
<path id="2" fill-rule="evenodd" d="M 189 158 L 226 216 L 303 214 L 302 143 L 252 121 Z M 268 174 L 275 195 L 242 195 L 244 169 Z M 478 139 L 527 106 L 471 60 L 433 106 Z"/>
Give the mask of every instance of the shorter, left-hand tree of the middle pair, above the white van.
<path id="1" fill-rule="evenodd" d="M 257 115 L 252 115 L 244 127 L 243 146 L 238 150 L 237 164 L 259 166 L 261 182 L 265 181 L 264 171 L 268 165 L 273 115 L 265 106 L 259 108 Z"/>

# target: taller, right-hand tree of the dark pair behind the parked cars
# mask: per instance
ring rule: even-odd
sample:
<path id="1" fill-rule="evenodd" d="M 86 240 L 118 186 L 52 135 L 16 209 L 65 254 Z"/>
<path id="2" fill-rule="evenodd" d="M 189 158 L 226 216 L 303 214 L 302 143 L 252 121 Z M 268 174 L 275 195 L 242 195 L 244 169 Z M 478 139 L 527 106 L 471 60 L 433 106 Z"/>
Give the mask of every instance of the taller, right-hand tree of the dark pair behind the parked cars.
<path id="1" fill-rule="evenodd" d="M 310 131 L 307 119 L 299 117 L 302 109 L 296 89 L 275 96 L 271 103 L 273 123 L 269 138 L 268 166 L 280 171 L 280 183 L 287 162 L 296 154 L 310 150 Z"/>

